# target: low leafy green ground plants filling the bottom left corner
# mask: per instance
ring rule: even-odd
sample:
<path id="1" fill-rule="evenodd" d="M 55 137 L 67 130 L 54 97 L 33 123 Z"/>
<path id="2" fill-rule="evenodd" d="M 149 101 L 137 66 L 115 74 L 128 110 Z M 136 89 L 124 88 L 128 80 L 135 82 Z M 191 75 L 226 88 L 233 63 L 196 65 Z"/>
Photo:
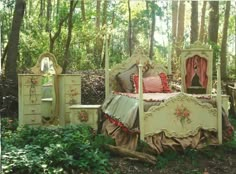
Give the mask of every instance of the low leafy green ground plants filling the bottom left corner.
<path id="1" fill-rule="evenodd" d="M 19 128 L 3 132 L 4 173 L 108 173 L 109 154 L 101 150 L 107 137 L 96 136 L 86 126 Z"/>

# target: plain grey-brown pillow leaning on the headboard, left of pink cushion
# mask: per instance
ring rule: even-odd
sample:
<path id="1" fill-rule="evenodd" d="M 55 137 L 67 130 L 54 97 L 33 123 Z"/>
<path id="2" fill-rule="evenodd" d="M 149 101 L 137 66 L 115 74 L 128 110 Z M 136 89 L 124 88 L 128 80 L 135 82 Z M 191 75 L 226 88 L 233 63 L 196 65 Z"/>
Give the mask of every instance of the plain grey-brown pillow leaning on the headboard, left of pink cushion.
<path id="1" fill-rule="evenodd" d="M 138 74 L 138 67 L 136 64 L 132 65 L 127 71 L 121 72 L 116 75 L 116 79 L 122 88 L 122 92 L 133 93 L 133 83 L 132 83 L 132 75 Z"/>

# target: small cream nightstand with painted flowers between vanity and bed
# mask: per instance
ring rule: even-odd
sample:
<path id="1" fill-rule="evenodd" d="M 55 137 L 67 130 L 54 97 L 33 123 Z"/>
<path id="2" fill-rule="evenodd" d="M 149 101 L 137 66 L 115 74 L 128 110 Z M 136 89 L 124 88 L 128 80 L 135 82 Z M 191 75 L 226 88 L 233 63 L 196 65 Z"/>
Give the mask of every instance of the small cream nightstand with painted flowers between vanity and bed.
<path id="1" fill-rule="evenodd" d="M 98 128 L 101 105 L 72 105 L 70 106 L 71 124 L 87 124 L 93 129 Z"/>

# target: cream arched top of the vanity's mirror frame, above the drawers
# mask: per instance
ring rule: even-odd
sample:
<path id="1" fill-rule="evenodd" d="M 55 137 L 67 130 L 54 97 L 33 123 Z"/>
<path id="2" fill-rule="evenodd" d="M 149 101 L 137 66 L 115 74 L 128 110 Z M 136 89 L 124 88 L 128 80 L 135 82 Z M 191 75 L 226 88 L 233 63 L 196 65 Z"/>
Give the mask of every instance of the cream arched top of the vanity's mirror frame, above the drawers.
<path id="1" fill-rule="evenodd" d="M 52 63 L 53 63 L 53 68 L 55 70 L 55 74 L 61 74 L 62 72 L 62 68 L 60 65 L 57 64 L 57 60 L 56 60 L 56 57 L 50 53 L 50 52 L 46 52 L 46 53 L 42 53 L 37 62 L 36 62 L 36 65 L 34 67 L 31 68 L 31 71 L 34 73 L 34 74 L 44 74 L 43 71 L 41 71 L 41 62 L 43 60 L 43 58 L 45 57 L 48 57 L 49 58 L 49 61 L 51 60 Z"/>

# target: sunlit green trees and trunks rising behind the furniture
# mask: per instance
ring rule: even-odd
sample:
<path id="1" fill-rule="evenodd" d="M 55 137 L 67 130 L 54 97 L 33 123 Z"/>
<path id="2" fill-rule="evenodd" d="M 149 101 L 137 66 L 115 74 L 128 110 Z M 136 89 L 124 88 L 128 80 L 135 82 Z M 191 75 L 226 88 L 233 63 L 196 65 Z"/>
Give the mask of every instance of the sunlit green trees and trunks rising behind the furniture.
<path id="1" fill-rule="evenodd" d="M 104 68 L 104 39 L 110 65 L 138 46 L 178 72 L 180 50 L 196 40 L 214 50 L 213 73 L 236 76 L 235 1 L 1 0 L 1 67 L 17 82 L 38 56 L 52 52 L 63 73 Z"/>

